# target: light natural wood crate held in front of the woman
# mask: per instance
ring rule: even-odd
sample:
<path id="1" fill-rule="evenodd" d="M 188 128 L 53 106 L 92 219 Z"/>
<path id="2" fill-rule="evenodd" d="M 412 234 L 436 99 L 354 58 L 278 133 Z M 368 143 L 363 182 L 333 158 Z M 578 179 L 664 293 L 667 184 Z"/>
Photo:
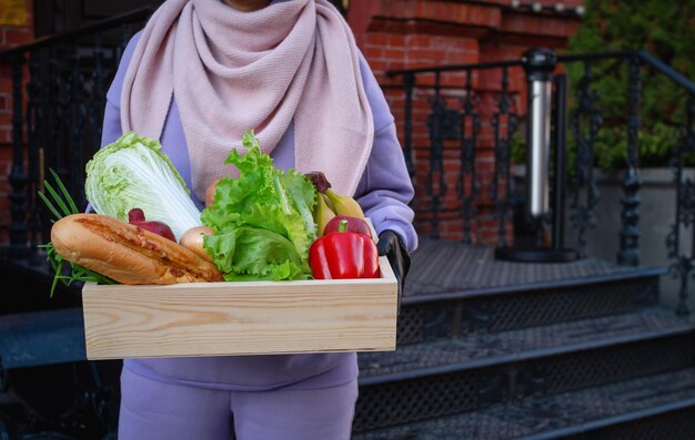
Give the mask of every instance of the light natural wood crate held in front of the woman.
<path id="1" fill-rule="evenodd" d="M 381 278 L 85 284 L 88 359 L 389 351 L 395 349 L 397 282 Z"/>

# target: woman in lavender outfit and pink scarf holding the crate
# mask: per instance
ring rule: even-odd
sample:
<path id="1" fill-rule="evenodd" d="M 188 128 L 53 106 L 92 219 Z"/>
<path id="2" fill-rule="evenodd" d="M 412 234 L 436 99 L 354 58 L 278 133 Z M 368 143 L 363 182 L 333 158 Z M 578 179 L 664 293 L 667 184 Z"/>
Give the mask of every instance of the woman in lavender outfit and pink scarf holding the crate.
<path id="1" fill-rule="evenodd" d="M 323 171 L 354 195 L 404 278 L 417 237 L 394 120 L 326 0 L 167 0 L 107 98 L 102 144 L 159 139 L 201 208 L 254 129 L 278 167 Z M 354 352 L 125 359 L 119 440 L 349 439 L 356 378 Z"/>

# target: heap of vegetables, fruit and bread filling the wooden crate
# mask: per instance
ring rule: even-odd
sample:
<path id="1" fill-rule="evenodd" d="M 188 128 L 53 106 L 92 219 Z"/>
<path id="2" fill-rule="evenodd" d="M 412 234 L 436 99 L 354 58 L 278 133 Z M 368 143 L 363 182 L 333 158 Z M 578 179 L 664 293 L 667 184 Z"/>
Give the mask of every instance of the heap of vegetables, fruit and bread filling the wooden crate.
<path id="1" fill-rule="evenodd" d="M 354 198 L 335 194 L 321 172 L 275 168 L 253 131 L 242 143 L 246 153 L 232 150 L 225 161 L 239 176 L 215 180 L 201 214 L 160 144 L 124 134 L 88 163 L 85 193 L 97 214 L 63 209 L 51 257 L 122 284 L 379 276 L 371 229 Z M 339 229 L 340 237 L 328 238 Z M 339 242 L 328 269 L 310 265 L 310 247 L 330 253 Z"/>

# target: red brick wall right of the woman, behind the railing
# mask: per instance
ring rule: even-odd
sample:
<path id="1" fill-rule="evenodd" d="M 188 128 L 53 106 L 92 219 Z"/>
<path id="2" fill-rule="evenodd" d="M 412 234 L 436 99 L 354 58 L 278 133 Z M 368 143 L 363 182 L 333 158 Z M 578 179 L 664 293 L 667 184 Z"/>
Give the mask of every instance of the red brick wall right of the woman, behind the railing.
<path id="1" fill-rule="evenodd" d="M 581 6 L 581 0 L 541 1 L 541 4 L 565 8 Z M 387 70 L 412 69 L 443 64 L 465 64 L 516 59 L 532 47 L 563 49 L 568 37 L 578 25 L 578 16 L 563 11 L 532 11 L 513 8 L 511 1 L 444 1 L 444 0 L 353 0 L 348 16 L 357 45 L 364 53 L 377 81 L 382 85 L 399 135 L 403 142 L 404 94 L 400 79 L 390 79 Z M 520 115 L 525 109 L 525 83 L 521 69 L 510 70 L 508 90 L 511 104 Z M 475 73 L 472 78 L 481 113 L 481 130 L 476 145 L 476 173 L 481 191 L 479 213 L 472 226 L 476 243 L 496 244 L 498 224 L 495 219 L 490 182 L 494 172 L 494 131 L 492 113 L 496 111 L 495 99 L 501 91 L 501 71 Z M 422 234 L 431 228 L 431 197 L 425 185 L 430 170 L 429 133 L 426 117 L 431 111 L 434 75 L 419 75 L 420 86 L 413 94 L 413 146 L 415 174 L 415 226 Z M 461 72 L 441 76 L 443 86 L 457 90 L 442 92 L 449 106 L 461 108 L 465 95 L 461 86 L 465 75 Z M 502 124 L 503 132 L 506 125 Z M 440 234 L 444 238 L 459 239 L 463 222 L 457 208 L 459 145 L 444 145 L 444 175 L 447 186 L 440 216 Z M 436 188 L 436 186 L 435 186 Z M 512 239 L 511 222 L 506 223 L 507 239 Z"/>

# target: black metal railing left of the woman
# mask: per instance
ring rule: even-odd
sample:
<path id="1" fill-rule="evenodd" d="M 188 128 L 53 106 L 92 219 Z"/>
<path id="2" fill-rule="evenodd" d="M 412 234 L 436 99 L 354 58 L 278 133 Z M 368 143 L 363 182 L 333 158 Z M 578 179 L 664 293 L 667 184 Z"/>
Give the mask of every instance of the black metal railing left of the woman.
<path id="1" fill-rule="evenodd" d="M 12 75 L 11 258 L 36 258 L 49 236 L 48 213 L 36 196 L 49 168 L 85 206 L 84 164 L 101 143 L 108 86 L 151 13 L 135 10 L 0 52 Z"/>

